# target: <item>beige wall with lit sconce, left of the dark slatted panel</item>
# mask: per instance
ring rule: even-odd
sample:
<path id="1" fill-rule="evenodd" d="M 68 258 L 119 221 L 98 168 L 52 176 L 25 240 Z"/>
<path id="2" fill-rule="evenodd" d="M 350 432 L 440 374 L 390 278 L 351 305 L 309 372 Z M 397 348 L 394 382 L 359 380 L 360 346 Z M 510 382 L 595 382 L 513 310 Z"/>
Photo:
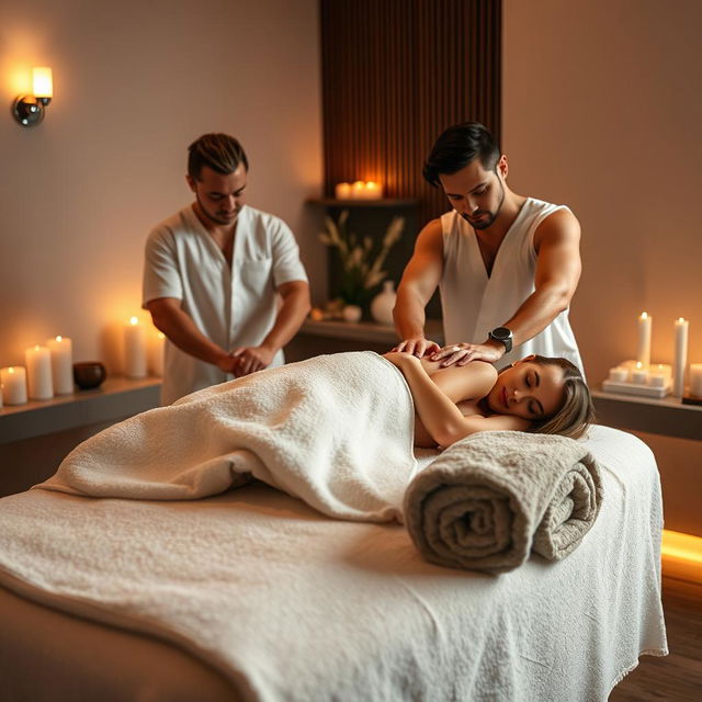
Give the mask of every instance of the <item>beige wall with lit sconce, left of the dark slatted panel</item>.
<path id="1" fill-rule="evenodd" d="M 25 0 L 0 7 L 0 365 L 61 333 L 116 365 L 140 306 L 147 231 L 186 205 L 186 146 L 239 137 L 249 202 L 319 257 L 303 203 L 321 188 L 316 0 Z M 27 129 L 9 114 L 33 65 L 55 99 Z M 315 279 L 319 261 L 305 256 Z"/>

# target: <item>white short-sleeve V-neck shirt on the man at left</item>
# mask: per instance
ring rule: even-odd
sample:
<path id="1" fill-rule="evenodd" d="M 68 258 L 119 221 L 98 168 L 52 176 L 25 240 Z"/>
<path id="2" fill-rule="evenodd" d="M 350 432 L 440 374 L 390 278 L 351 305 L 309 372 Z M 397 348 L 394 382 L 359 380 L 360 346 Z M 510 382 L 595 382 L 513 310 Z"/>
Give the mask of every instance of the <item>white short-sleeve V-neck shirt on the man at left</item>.
<path id="1" fill-rule="evenodd" d="M 143 307 L 159 297 L 180 299 L 205 337 L 233 351 L 263 341 L 278 315 L 275 288 L 292 281 L 307 281 L 307 275 L 295 237 L 282 219 L 245 205 L 229 268 L 189 206 L 159 224 L 147 239 Z M 271 367 L 284 362 L 280 350 Z M 166 340 L 161 404 L 231 377 Z"/>

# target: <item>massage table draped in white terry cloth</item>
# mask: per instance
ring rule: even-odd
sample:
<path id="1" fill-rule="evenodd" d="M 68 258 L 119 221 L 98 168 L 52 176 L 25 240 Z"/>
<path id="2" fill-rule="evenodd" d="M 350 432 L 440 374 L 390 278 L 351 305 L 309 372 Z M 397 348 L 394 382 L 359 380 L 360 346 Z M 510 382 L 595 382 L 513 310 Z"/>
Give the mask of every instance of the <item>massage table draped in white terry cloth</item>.
<path id="1" fill-rule="evenodd" d="M 0 551 L 33 540 L 39 556 L 31 580 L 0 567 L 0 700 L 602 702 L 639 655 L 667 654 L 663 514 L 643 442 L 600 426 L 585 441 L 597 521 L 562 561 L 502 575 L 431 565 L 403 524 L 259 482 L 193 501 L 3 498 Z M 9 542 L 18 514 L 33 526 Z M 101 563 L 81 563 L 105 534 Z M 47 589 L 44 554 L 102 585 Z M 145 571 L 148 597 L 131 580 Z"/>

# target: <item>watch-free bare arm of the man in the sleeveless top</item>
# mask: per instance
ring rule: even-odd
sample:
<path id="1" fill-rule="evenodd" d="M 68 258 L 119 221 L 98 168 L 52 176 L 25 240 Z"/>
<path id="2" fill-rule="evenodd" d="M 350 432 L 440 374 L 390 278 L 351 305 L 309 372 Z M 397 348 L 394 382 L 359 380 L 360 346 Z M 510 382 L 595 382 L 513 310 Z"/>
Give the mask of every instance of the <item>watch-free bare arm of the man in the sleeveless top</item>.
<path id="1" fill-rule="evenodd" d="M 441 222 L 430 222 L 417 237 L 415 253 L 397 288 L 393 317 L 397 336 L 403 340 L 396 351 L 418 358 L 438 351 L 439 344 L 424 337 L 424 308 L 433 295 L 443 273 L 443 238 Z"/>

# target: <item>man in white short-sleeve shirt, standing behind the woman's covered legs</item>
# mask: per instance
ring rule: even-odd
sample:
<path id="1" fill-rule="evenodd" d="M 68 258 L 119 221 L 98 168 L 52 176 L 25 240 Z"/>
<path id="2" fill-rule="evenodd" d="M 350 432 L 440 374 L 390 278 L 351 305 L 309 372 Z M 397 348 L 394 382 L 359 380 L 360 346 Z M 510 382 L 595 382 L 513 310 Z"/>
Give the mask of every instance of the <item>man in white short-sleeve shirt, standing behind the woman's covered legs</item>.
<path id="1" fill-rule="evenodd" d="M 226 134 L 189 147 L 195 202 L 146 244 L 143 306 L 167 338 L 161 403 L 284 363 L 309 312 L 295 238 L 278 217 L 244 204 L 248 160 Z"/>

